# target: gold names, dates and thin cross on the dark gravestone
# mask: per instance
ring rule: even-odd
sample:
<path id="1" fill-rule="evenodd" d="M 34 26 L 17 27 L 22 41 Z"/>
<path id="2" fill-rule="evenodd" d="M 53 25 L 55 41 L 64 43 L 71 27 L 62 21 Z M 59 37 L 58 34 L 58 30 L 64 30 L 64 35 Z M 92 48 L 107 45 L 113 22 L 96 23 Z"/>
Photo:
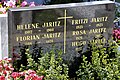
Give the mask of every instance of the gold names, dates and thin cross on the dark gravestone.
<path id="1" fill-rule="evenodd" d="M 15 36 L 16 42 L 32 45 L 34 41 L 39 44 L 62 43 L 63 52 L 66 53 L 68 42 L 70 47 L 79 51 L 79 46 L 87 44 L 87 38 L 90 42 L 102 43 L 106 38 L 99 39 L 101 33 L 107 33 L 106 22 L 108 16 L 91 17 L 91 18 L 74 18 L 68 15 L 67 10 L 63 10 L 63 16 L 56 19 L 36 22 L 29 24 L 17 24 L 16 30 L 23 32 L 22 35 Z M 69 24 L 69 25 L 67 25 Z M 94 37 L 97 38 L 94 40 Z"/>

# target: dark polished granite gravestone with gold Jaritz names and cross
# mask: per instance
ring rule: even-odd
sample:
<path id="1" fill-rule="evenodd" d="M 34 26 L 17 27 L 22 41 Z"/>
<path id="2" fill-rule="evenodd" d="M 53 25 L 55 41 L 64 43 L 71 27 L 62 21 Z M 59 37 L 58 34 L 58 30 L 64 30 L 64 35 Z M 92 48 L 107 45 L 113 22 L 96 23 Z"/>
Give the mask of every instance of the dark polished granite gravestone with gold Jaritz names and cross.
<path id="1" fill-rule="evenodd" d="M 87 42 L 112 39 L 114 6 L 96 1 L 9 9 L 9 53 L 37 43 L 43 53 L 59 49 L 65 60 L 74 62 Z"/>

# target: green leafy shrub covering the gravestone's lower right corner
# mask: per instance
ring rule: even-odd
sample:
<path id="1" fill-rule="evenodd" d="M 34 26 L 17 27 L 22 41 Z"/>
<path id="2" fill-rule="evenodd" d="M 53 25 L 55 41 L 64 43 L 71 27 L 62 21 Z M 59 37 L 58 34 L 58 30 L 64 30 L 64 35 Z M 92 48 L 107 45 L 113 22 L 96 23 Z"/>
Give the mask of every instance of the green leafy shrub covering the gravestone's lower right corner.
<path id="1" fill-rule="evenodd" d="M 96 46 L 91 44 L 91 61 L 83 55 L 83 63 L 76 72 L 78 80 L 119 80 L 120 54 L 113 42 Z"/>

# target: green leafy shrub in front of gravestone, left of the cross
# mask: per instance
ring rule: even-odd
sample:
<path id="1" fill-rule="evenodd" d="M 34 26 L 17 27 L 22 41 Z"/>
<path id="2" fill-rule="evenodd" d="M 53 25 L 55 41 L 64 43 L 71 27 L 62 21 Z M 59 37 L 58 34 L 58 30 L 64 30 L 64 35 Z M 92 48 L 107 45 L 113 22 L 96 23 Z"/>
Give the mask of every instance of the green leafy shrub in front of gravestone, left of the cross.
<path id="1" fill-rule="evenodd" d="M 29 49 L 26 49 L 27 65 L 21 64 L 19 71 L 32 69 L 38 75 L 44 75 L 45 80 L 68 80 L 68 66 L 63 63 L 62 51 L 57 50 L 55 55 L 54 50 L 49 53 L 42 54 L 36 62 Z"/>

